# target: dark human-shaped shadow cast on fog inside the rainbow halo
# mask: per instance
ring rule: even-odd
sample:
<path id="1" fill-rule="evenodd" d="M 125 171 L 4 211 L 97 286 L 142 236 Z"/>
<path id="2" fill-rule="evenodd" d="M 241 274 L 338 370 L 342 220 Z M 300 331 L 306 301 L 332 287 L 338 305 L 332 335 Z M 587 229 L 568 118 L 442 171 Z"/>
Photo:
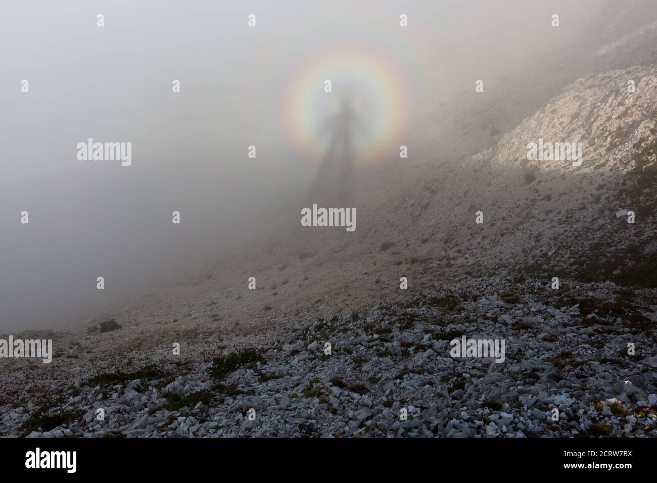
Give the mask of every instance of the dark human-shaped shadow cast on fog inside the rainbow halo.
<path id="1" fill-rule="evenodd" d="M 362 121 L 348 99 L 342 99 L 340 110 L 320 126 L 320 135 L 330 136 L 309 198 L 318 206 L 346 207 L 353 200 L 353 138 Z"/>

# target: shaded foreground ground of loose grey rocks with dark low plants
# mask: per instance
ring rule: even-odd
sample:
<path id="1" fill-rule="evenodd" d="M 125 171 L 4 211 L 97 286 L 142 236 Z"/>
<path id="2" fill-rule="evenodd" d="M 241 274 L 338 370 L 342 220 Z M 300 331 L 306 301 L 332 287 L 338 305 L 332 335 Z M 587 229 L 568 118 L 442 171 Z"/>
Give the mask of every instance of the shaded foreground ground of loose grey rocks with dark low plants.
<path id="1" fill-rule="evenodd" d="M 24 380 L 14 394 L 3 390 L 11 400 L 0 429 L 32 438 L 654 437 L 656 320 L 654 289 L 470 282 L 298 329 L 199 334 L 180 356 L 163 348 L 131 361 L 137 370 L 90 373 L 62 354 L 41 391 L 30 372 L 46 369 L 14 373 Z M 122 331 L 93 337 L 107 345 Z M 505 361 L 451 357 L 449 341 L 463 334 L 505 339 Z"/>

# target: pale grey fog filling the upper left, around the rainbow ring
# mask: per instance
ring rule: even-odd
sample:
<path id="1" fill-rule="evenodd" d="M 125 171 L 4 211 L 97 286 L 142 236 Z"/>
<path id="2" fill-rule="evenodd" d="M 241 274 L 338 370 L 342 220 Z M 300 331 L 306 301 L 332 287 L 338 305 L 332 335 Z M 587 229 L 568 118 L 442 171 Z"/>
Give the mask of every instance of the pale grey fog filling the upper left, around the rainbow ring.
<path id="1" fill-rule="evenodd" d="M 602 3 L 5 3 L 0 331 L 57 327 L 185 282 L 298 217 L 290 206 L 317 181 L 332 149 L 323 121 L 344 95 L 365 125 L 355 163 L 398 157 L 475 80 L 499 83 L 585 42 L 591 26 L 569 15 Z M 89 138 L 131 143 L 131 164 L 79 160 Z"/>

